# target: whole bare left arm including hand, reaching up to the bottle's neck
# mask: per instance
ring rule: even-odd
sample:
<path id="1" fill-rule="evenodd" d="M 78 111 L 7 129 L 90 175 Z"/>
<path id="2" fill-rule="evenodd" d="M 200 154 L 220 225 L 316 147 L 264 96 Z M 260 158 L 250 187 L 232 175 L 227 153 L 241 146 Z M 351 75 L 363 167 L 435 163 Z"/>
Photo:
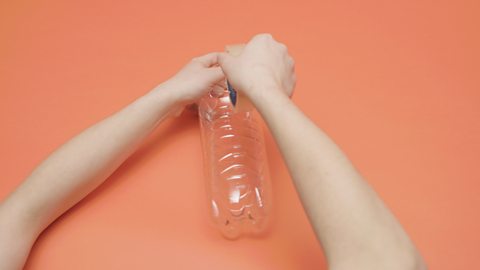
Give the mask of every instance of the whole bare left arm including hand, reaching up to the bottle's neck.
<path id="1" fill-rule="evenodd" d="M 169 112 L 223 78 L 217 54 L 195 58 L 177 75 L 53 152 L 0 205 L 0 263 L 21 269 L 38 235 L 100 185 Z"/>

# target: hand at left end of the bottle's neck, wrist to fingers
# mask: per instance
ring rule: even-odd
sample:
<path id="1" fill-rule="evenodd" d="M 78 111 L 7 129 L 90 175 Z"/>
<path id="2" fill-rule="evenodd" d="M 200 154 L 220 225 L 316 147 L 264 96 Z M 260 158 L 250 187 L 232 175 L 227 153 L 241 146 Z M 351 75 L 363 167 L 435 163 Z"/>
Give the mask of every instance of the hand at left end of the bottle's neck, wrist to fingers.
<path id="1" fill-rule="evenodd" d="M 222 82 L 224 75 L 217 62 L 216 52 L 195 57 L 160 87 L 170 93 L 179 108 L 183 108 Z"/>

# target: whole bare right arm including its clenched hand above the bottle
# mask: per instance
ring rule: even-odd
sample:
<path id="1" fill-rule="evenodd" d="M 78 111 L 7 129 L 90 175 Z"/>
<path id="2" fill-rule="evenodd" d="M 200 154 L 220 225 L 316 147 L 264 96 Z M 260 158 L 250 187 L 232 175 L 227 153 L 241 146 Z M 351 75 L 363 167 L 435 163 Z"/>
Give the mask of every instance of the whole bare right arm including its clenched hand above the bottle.
<path id="1" fill-rule="evenodd" d="M 286 47 L 269 35 L 256 36 L 239 57 L 222 55 L 220 65 L 275 137 L 329 268 L 423 269 L 420 255 L 382 200 L 289 99 L 295 76 Z"/>

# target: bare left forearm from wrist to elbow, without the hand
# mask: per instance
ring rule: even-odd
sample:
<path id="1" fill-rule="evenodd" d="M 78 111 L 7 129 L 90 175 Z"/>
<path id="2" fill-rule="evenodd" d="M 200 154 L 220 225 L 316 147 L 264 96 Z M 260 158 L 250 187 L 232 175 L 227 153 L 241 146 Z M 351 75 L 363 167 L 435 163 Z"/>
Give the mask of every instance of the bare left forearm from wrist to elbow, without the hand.
<path id="1" fill-rule="evenodd" d="M 3 203 L 2 211 L 22 232 L 40 233 L 100 185 L 174 105 L 154 89 L 89 127 L 53 152 Z"/>

